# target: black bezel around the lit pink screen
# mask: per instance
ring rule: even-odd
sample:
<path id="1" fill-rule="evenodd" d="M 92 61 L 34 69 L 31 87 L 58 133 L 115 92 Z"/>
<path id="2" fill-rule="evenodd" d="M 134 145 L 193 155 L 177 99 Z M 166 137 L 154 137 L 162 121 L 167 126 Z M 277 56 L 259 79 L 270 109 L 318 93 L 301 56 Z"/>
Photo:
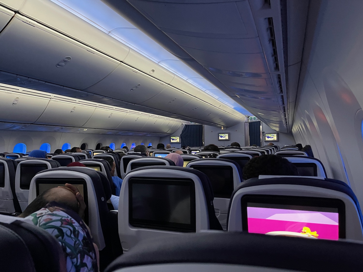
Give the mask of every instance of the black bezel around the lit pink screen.
<path id="1" fill-rule="evenodd" d="M 244 195 L 241 198 L 242 231 L 248 232 L 247 203 L 303 206 L 306 207 L 307 211 L 311 211 L 312 210 L 311 208 L 338 209 L 339 239 L 346 238 L 345 204 L 340 199 L 322 198 L 322 197 L 298 197 L 298 196 L 286 196 L 286 195 L 248 195 L 248 194 Z M 306 205 L 306 203 L 308 204 Z M 286 207 L 286 209 L 289 208 Z"/>

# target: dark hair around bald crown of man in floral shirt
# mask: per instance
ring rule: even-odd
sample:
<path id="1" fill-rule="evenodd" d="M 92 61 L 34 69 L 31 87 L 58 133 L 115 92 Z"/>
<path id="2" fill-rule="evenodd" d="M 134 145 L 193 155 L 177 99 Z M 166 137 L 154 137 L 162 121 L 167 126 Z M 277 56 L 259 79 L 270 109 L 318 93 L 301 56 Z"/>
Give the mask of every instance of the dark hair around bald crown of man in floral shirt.
<path id="1" fill-rule="evenodd" d="M 41 193 L 40 195 L 38 195 L 24 210 L 23 213 L 21 213 L 19 215 L 19 217 L 25 218 L 28 215 L 35 213 L 36 211 L 44 208 L 49 202 L 52 202 L 54 199 L 52 199 L 51 196 L 53 196 L 52 194 L 50 194 L 50 190 L 52 190 L 54 188 L 48 189 L 46 191 L 44 191 L 43 193 Z M 73 203 L 69 202 L 69 201 L 65 201 L 63 199 L 57 199 L 56 202 L 66 205 L 67 207 L 69 207 L 70 209 L 72 209 L 73 211 L 75 211 L 76 213 L 78 213 L 79 211 L 79 206 L 78 206 L 78 201 L 75 198 L 75 201 Z"/>

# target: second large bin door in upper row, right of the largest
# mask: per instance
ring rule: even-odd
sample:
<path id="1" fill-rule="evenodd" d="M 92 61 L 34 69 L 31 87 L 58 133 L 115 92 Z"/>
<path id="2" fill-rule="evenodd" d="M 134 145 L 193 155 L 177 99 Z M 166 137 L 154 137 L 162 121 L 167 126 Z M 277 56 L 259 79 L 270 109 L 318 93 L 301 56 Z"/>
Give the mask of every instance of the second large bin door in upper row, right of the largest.
<path id="1" fill-rule="evenodd" d="M 165 83 L 120 63 L 106 78 L 85 91 L 102 95 L 107 90 L 107 96 L 139 104 L 163 91 L 165 86 Z"/>

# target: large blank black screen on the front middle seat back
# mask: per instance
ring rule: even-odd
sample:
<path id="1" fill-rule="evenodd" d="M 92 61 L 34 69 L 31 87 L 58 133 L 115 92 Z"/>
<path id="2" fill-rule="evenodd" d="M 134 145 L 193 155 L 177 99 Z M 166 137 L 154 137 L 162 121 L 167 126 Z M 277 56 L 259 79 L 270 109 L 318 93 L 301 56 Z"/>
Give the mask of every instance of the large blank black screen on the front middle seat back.
<path id="1" fill-rule="evenodd" d="M 136 227 L 195 232 L 194 182 L 131 179 L 129 221 Z"/>

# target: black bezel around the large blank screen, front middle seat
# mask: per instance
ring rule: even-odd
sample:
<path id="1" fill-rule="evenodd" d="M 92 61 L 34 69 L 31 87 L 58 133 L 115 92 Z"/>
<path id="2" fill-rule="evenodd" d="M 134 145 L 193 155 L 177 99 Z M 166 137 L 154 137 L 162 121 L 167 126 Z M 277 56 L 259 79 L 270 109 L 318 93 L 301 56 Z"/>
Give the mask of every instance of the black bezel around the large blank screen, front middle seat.
<path id="1" fill-rule="evenodd" d="M 190 224 L 159 222 L 147 219 L 132 218 L 132 185 L 133 184 L 158 184 L 158 185 L 189 185 L 190 188 Z M 134 227 L 151 228 L 154 230 L 167 230 L 176 232 L 196 232 L 196 207 L 195 207 L 195 184 L 191 179 L 170 178 L 131 178 L 129 180 L 129 224 Z"/>

